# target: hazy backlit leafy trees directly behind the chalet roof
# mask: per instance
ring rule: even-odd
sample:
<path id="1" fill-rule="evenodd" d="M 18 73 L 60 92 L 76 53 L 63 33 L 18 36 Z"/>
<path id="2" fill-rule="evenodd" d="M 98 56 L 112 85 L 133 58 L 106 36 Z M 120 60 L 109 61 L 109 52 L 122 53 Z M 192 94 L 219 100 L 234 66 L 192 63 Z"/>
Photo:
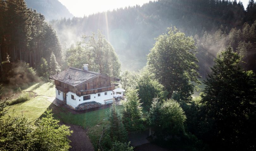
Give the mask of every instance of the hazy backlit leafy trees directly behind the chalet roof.
<path id="1" fill-rule="evenodd" d="M 83 38 L 83 42 L 78 42 L 75 48 L 67 51 L 68 65 L 82 68 L 82 64 L 88 64 L 91 71 L 118 78 L 121 71 L 119 57 L 101 31 L 98 30 L 97 34 L 93 32 L 92 36 Z"/>

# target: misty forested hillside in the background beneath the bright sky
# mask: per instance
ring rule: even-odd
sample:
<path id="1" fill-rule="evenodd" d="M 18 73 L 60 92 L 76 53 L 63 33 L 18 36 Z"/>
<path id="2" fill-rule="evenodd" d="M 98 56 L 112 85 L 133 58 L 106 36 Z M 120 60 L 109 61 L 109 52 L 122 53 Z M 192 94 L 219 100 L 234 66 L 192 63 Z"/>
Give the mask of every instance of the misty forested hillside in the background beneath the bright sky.
<path id="1" fill-rule="evenodd" d="M 205 31 L 214 36 L 220 29 L 222 34 L 229 35 L 232 28 L 241 29 L 245 22 L 251 25 L 256 19 L 255 10 L 253 0 L 250 0 L 248 6 L 236 0 L 159 0 L 83 18 L 54 20 L 51 24 L 66 47 L 71 42 L 80 41 L 82 35 L 102 30 L 119 55 L 122 69 L 137 70 L 146 64 L 146 55 L 155 43 L 154 38 L 166 32 L 170 25 L 176 26 L 187 36 L 196 35 L 201 41 Z M 221 45 L 224 47 L 227 44 L 222 42 Z M 218 49 L 209 48 L 200 47 L 198 59 L 205 59 L 207 64 L 212 65 L 212 58 Z M 203 65 L 200 65 L 201 69 L 204 69 Z"/>

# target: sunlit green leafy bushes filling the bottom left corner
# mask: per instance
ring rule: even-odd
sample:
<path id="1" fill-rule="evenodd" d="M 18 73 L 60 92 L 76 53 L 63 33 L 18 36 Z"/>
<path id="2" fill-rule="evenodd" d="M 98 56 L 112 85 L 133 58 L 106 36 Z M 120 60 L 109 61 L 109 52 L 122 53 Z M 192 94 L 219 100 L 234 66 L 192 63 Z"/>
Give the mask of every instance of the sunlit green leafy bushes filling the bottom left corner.
<path id="1" fill-rule="evenodd" d="M 1 108 L 0 108 L 1 109 Z M 54 120 L 52 111 L 46 110 L 46 117 L 35 125 L 25 117 L 11 117 L 0 124 L 0 150 L 43 150 L 68 151 L 72 131 L 69 126 L 59 125 Z"/>

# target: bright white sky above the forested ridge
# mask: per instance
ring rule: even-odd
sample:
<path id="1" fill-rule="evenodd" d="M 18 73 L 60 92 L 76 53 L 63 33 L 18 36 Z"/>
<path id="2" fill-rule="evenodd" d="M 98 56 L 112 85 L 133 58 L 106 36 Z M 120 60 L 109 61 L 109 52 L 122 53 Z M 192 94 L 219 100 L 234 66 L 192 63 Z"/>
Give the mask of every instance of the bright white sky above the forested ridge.
<path id="1" fill-rule="evenodd" d="M 149 0 L 59 0 L 76 17 L 113 10 L 125 6 L 143 5 Z"/>

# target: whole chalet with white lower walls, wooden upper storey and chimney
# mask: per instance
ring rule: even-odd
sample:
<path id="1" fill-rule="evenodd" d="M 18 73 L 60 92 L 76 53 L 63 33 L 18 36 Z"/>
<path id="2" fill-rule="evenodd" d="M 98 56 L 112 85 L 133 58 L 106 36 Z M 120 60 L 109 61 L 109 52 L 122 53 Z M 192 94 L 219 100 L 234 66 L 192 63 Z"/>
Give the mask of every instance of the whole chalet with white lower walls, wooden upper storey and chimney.
<path id="1" fill-rule="evenodd" d="M 54 80 L 56 98 L 65 104 L 83 110 L 113 101 L 114 81 L 120 79 L 88 71 L 87 64 L 83 70 L 68 68 L 49 77 Z"/>

